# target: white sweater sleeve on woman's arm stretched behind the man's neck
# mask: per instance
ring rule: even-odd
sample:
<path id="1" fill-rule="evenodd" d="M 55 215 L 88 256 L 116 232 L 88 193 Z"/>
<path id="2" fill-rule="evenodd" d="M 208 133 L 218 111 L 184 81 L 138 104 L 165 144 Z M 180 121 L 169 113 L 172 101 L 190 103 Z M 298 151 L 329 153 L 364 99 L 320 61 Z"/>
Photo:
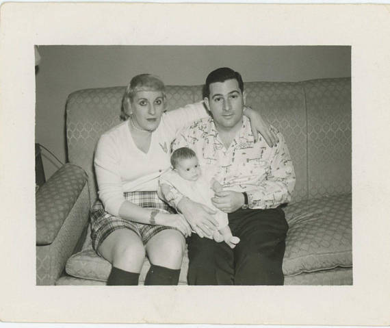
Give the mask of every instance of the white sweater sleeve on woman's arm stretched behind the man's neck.
<path id="1" fill-rule="evenodd" d="M 183 108 L 178 108 L 177 110 L 170 110 L 165 112 L 161 118 L 161 121 L 164 123 L 164 129 L 168 132 L 169 136 L 174 140 L 177 132 L 183 127 L 190 125 L 194 121 L 200 120 L 200 118 L 205 118 L 207 110 L 203 101 L 198 103 L 191 103 L 185 105 Z"/>

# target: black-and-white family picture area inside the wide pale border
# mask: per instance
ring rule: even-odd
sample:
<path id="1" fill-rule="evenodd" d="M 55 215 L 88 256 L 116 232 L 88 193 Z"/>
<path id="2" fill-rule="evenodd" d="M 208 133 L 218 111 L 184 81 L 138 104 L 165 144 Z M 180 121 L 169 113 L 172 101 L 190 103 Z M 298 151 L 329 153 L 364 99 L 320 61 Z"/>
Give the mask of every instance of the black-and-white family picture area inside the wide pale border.
<path id="1" fill-rule="evenodd" d="M 34 51 L 37 286 L 353 286 L 350 45 Z"/>

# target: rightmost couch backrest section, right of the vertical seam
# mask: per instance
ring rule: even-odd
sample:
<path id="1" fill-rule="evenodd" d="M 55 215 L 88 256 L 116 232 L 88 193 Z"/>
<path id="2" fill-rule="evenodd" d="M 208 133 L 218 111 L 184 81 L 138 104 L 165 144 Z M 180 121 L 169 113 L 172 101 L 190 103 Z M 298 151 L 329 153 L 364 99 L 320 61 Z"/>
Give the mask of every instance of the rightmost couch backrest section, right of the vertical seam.
<path id="1" fill-rule="evenodd" d="M 309 198 L 351 192 L 350 79 L 304 82 Z"/>

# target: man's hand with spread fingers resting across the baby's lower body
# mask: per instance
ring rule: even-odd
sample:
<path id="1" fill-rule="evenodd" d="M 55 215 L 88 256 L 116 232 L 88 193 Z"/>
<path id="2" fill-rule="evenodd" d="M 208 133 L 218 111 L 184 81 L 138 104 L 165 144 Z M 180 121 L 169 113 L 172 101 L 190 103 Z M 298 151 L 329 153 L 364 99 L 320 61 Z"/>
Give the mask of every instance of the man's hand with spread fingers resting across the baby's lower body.
<path id="1" fill-rule="evenodd" d="M 186 197 L 181 199 L 177 207 L 200 238 L 205 236 L 213 238 L 213 232 L 218 227 L 217 221 L 211 216 L 216 214 L 215 210 Z"/>

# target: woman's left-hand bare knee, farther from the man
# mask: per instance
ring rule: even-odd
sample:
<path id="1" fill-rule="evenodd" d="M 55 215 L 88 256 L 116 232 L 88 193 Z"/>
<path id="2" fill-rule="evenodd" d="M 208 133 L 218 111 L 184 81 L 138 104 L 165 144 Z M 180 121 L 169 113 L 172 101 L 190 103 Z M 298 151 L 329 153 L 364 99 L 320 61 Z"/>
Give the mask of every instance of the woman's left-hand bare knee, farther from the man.
<path id="1" fill-rule="evenodd" d="M 139 273 L 145 258 L 144 244 L 139 236 L 129 229 L 120 229 L 110 234 L 99 253 L 116 268 Z"/>

